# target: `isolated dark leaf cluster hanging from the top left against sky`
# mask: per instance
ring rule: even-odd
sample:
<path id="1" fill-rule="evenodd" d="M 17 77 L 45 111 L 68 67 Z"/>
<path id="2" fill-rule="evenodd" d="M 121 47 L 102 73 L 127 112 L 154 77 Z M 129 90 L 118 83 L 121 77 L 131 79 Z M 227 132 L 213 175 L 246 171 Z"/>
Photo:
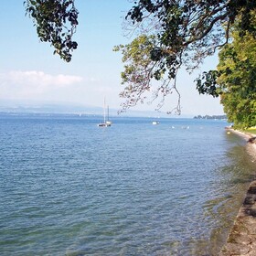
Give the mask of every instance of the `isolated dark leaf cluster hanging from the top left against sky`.
<path id="1" fill-rule="evenodd" d="M 69 62 L 71 52 L 78 47 L 72 40 L 78 25 L 74 0 L 26 0 L 24 5 L 40 40 L 49 42 L 55 48 L 54 54 Z"/>

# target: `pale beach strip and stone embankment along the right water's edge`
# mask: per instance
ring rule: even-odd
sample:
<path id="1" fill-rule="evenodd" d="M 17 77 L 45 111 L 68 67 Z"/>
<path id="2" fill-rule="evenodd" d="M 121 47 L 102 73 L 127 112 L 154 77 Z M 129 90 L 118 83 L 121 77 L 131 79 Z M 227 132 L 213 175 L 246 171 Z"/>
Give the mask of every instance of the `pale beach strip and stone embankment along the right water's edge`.
<path id="1" fill-rule="evenodd" d="M 256 135 L 242 133 L 232 128 L 227 128 L 228 133 L 235 133 L 247 141 L 246 149 L 256 162 Z M 256 172 L 255 172 L 256 176 Z M 255 256 L 256 255 L 256 179 L 251 181 L 229 236 L 219 252 L 219 256 Z"/>

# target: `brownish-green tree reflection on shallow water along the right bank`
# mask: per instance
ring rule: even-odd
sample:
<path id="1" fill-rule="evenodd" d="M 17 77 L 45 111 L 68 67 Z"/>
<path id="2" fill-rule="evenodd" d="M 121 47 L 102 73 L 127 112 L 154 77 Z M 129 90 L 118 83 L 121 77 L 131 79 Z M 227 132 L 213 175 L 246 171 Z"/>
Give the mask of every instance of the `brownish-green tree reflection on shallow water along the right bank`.
<path id="1" fill-rule="evenodd" d="M 208 200 L 204 207 L 205 217 L 214 219 L 217 223 L 217 228 L 212 229 L 210 233 L 208 244 L 210 255 L 216 255 L 219 248 L 223 246 L 247 188 L 255 178 L 256 165 L 251 161 L 244 141 L 236 135 L 229 136 L 229 141 L 234 144 L 227 152 L 229 165 L 219 169 L 221 179 L 219 179 L 219 186 L 215 189 L 216 196 Z M 200 255 L 199 251 L 198 255 Z"/>

